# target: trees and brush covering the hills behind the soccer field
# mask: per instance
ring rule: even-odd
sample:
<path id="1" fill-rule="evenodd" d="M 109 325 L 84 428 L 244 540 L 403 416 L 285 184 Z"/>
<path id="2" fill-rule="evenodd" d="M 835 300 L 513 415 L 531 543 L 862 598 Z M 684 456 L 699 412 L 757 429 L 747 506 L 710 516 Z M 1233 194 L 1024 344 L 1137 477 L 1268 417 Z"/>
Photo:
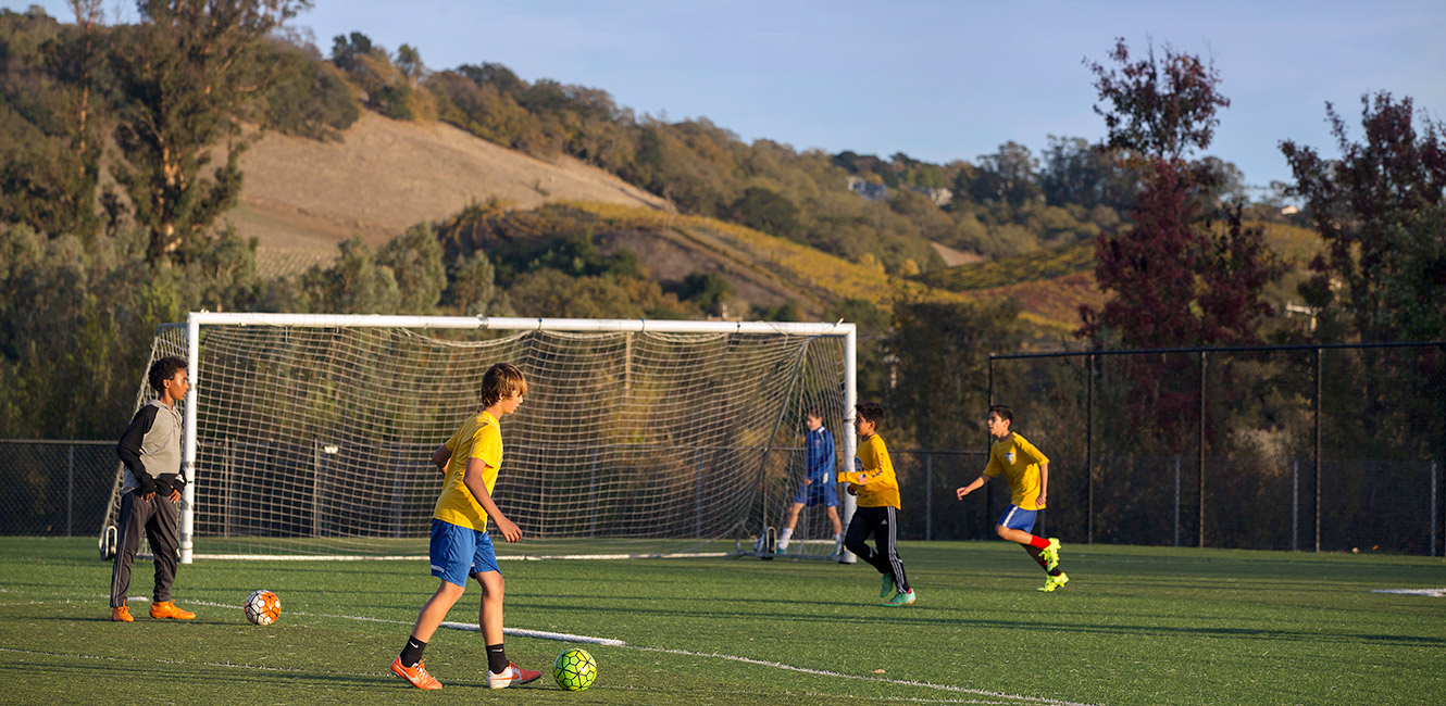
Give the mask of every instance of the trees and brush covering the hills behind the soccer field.
<path id="1" fill-rule="evenodd" d="M 1446 336 L 1442 126 L 1410 98 L 1366 97 L 1359 143 L 1327 107 L 1342 157 L 1285 140 L 1294 183 L 1251 202 L 1238 169 L 1200 154 L 1228 107 L 1218 72 L 1171 48 L 1137 56 L 1121 40 L 1106 64 L 1086 59 L 1100 143 L 1051 137 L 1035 156 L 1009 141 L 933 165 L 749 144 L 706 118 L 636 116 L 604 91 L 528 82 L 497 64 L 432 71 L 415 48 L 393 53 L 359 32 L 322 55 L 286 33 L 305 1 L 142 0 L 124 26 L 100 23 L 98 0 L 71 4 L 69 23 L 0 12 L 0 284 L 14 293 L 0 305 L 0 426 L 12 436 L 113 436 L 155 325 L 191 309 L 690 318 L 727 295 L 716 276 L 665 286 L 628 253 L 600 254 L 597 224 L 565 208 L 496 202 L 380 248 L 344 243 L 298 276 L 259 276 L 254 241 L 221 224 L 244 179 L 239 156 L 256 128 L 331 140 L 362 110 L 570 154 L 685 214 L 902 276 L 941 267 L 930 243 L 1005 256 L 1095 241 L 1109 302 L 1082 312 L 1067 345 Z M 850 176 L 889 198 L 850 193 Z M 1314 331 L 1265 326 L 1262 287 L 1281 261 L 1259 228 L 1285 218 L 1287 201 L 1322 235 L 1300 292 Z M 479 224 L 519 237 L 458 247 Z M 826 315 L 863 325 L 865 394 L 897 410 L 901 440 L 934 448 L 973 443 L 988 352 L 1037 336 L 1009 303 L 844 299 Z"/>

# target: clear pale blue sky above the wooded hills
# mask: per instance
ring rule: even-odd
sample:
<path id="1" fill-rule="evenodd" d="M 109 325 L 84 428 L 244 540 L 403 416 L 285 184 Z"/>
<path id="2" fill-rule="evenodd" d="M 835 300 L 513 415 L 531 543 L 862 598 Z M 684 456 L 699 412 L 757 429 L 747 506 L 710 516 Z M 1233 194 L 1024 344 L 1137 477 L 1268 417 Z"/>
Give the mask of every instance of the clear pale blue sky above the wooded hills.
<path id="1" fill-rule="evenodd" d="M 68 17 L 64 0 L 39 4 Z M 133 3 L 106 6 L 134 17 Z M 1103 137 L 1082 59 L 1106 64 L 1116 36 L 1213 58 L 1232 105 L 1209 153 L 1251 185 L 1290 179 L 1284 139 L 1333 153 L 1326 101 L 1356 136 L 1368 91 L 1446 116 L 1442 0 L 317 0 L 295 25 L 324 53 L 359 30 L 393 52 L 411 43 L 432 69 L 499 62 L 745 140 L 928 162 Z"/>

